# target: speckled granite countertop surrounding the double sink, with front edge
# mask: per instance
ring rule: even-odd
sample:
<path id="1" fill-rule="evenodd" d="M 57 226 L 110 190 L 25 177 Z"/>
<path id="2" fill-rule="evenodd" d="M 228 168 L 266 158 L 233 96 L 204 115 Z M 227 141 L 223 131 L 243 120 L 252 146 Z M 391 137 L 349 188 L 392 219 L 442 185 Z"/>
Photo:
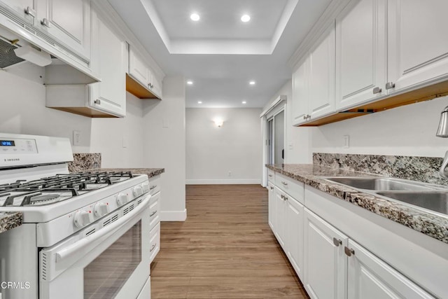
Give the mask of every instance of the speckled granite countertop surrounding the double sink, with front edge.
<path id="1" fill-rule="evenodd" d="M 359 207 L 372 211 L 374 214 L 386 217 L 448 244 L 448 216 L 428 213 L 419 208 L 410 207 L 407 204 L 386 200 L 384 197 L 363 193 L 355 188 L 342 186 L 338 183 L 332 183 L 325 179 L 321 179 L 322 176 L 371 177 L 378 176 L 377 174 L 356 172 L 349 169 L 335 169 L 311 164 L 266 166 L 274 172 L 279 172 L 291 179 L 301 181 L 341 200 L 356 204 Z"/>

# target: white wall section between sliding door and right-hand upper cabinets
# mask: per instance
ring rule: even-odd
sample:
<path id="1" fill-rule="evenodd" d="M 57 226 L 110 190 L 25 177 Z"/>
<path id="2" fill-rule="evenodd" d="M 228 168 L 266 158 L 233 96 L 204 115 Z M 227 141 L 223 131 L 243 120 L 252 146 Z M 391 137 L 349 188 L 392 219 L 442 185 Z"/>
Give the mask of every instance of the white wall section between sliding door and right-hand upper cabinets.
<path id="1" fill-rule="evenodd" d="M 274 97 L 265 105 L 264 109 L 274 102 L 279 95 L 286 95 L 286 148 L 285 148 L 285 163 L 311 163 L 311 132 L 312 127 L 293 127 L 292 117 L 292 99 L 293 99 L 293 85 L 289 80 L 283 87 L 276 92 Z"/>

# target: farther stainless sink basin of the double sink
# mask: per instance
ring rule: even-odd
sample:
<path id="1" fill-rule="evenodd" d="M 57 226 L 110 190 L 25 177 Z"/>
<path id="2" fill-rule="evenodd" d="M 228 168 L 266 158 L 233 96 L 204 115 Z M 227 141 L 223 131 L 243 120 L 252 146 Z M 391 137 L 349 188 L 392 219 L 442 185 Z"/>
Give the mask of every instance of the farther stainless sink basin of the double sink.
<path id="1" fill-rule="evenodd" d="M 328 181 L 335 183 L 342 183 L 346 186 L 351 186 L 357 189 L 375 190 L 375 191 L 389 191 L 389 190 L 403 190 L 403 191 L 424 191 L 437 190 L 433 187 L 427 186 L 423 183 L 414 181 L 405 181 L 401 179 L 388 178 L 360 178 L 360 177 L 335 177 L 325 178 Z"/>

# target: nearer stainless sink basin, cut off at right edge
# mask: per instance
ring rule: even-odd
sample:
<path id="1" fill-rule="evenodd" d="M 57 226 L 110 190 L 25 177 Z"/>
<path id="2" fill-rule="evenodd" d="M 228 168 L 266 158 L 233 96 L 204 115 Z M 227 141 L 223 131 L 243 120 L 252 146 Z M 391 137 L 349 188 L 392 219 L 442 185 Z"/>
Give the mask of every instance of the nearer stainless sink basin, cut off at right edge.
<path id="1" fill-rule="evenodd" d="M 408 191 L 390 191 L 377 192 L 378 195 L 386 196 L 398 200 L 400 202 L 407 202 L 425 209 L 437 211 L 448 215 L 448 192 L 444 191 L 430 191 L 430 192 L 408 192 Z"/>

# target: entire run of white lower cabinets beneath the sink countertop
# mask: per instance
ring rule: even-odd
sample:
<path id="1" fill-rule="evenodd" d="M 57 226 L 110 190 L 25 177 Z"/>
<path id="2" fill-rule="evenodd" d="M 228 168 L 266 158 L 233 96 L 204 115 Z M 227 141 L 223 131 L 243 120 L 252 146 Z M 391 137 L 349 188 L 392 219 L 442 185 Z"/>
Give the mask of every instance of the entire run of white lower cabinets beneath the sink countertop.
<path id="1" fill-rule="evenodd" d="M 383 237 L 385 240 L 394 239 L 396 243 L 391 246 L 400 248 L 406 255 L 404 251 L 408 243 L 404 243 L 401 236 L 391 237 L 393 232 L 382 231 L 375 222 L 369 224 L 365 220 L 368 216 L 363 216 L 362 221 L 367 222 L 361 224 L 361 219 L 357 218 L 360 211 L 353 213 L 351 206 L 342 211 L 335 197 L 326 193 L 319 196 L 321 192 L 314 188 L 304 188 L 299 181 L 286 181 L 286 177 L 278 173 L 276 179 L 277 176 L 276 184 L 269 182 L 268 185 L 269 226 L 310 298 L 435 298 L 408 278 L 414 274 L 403 272 L 402 263 L 406 258 L 397 256 L 391 259 L 388 251 L 383 250 L 387 241 L 380 249 L 369 241 L 378 239 L 378 235 L 381 235 L 380 243 Z M 288 192 L 294 191 L 304 204 L 286 193 L 286 188 Z M 304 193 L 301 193 L 303 189 Z M 361 235 L 358 235 L 359 231 L 362 231 Z M 356 242 L 358 239 L 358 242 L 365 243 L 365 247 Z M 419 256 L 415 258 L 427 258 L 427 263 L 432 265 L 428 269 L 434 267 L 434 257 L 429 252 L 428 256 L 422 254 L 420 249 L 416 252 Z M 440 267 L 445 264 L 446 260 L 440 260 Z M 421 270 L 429 276 L 433 275 L 427 272 L 428 269 Z M 428 287 L 428 279 L 423 279 L 422 285 Z M 435 294 L 444 293 L 440 291 L 440 284 L 430 286 Z"/>

